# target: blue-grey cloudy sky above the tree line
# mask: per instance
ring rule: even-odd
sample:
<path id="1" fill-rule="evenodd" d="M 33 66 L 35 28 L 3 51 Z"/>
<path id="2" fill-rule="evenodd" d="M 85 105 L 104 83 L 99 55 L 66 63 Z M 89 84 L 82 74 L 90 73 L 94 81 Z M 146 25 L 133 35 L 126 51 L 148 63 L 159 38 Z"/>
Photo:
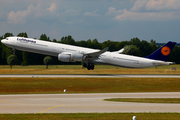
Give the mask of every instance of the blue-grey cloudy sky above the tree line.
<path id="1" fill-rule="evenodd" d="M 0 35 L 180 42 L 180 0 L 0 0 Z"/>

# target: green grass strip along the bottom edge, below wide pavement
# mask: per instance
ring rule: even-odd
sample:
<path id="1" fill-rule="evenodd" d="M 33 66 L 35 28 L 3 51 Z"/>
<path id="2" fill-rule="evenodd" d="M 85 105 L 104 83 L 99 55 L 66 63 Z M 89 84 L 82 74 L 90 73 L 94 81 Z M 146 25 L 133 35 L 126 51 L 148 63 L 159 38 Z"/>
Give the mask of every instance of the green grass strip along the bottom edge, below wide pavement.
<path id="1" fill-rule="evenodd" d="M 1 120 L 179 120 L 179 113 L 0 114 Z"/>

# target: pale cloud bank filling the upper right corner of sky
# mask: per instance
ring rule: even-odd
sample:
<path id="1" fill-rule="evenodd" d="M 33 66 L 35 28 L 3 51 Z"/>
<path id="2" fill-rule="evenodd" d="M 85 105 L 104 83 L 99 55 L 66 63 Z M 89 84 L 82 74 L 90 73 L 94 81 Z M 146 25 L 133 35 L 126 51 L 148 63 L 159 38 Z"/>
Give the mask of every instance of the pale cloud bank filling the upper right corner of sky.
<path id="1" fill-rule="evenodd" d="M 168 21 L 180 19 L 178 0 L 136 0 L 133 7 L 128 11 L 115 10 L 110 7 L 107 14 L 119 13 L 113 19 L 138 20 L 138 21 Z"/>

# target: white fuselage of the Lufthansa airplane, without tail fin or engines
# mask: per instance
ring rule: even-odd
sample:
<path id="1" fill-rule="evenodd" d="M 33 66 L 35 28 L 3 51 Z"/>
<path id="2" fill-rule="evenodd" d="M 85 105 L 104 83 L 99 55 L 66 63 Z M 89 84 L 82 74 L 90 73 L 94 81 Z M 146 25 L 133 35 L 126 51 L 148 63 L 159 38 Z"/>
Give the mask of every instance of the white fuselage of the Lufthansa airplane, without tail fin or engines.
<path id="1" fill-rule="evenodd" d="M 23 37 L 8 37 L 7 39 L 1 40 L 1 42 L 17 50 L 51 55 L 56 57 L 58 57 L 59 54 L 65 52 L 84 55 L 99 51 L 90 48 L 47 42 Z M 164 62 L 125 54 L 118 54 L 115 52 L 104 52 L 101 55 L 99 55 L 98 59 L 93 60 L 92 63 L 108 64 L 128 68 L 145 68 L 171 64 L 171 62 Z"/>

